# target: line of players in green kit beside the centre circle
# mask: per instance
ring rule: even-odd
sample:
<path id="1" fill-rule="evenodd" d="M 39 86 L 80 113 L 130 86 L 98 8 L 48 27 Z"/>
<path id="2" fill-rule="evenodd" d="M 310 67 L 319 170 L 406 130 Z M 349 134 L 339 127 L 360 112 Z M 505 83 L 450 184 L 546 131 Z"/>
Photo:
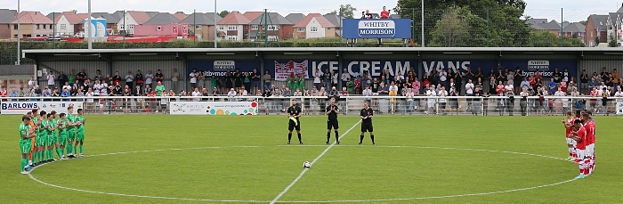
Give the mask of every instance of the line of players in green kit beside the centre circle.
<path id="1" fill-rule="evenodd" d="M 78 109 L 73 115 L 74 108 L 69 107 L 68 113 L 50 113 L 44 110 L 32 110 L 22 116 L 20 124 L 20 151 L 21 174 L 28 174 L 32 167 L 53 162 L 54 152 L 57 158 L 64 160 L 77 158 L 83 153 L 85 142 L 85 121 L 83 110 Z M 38 113 L 37 113 L 38 112 Z M 67 154 L 66 154 L 67 153 Z"/>

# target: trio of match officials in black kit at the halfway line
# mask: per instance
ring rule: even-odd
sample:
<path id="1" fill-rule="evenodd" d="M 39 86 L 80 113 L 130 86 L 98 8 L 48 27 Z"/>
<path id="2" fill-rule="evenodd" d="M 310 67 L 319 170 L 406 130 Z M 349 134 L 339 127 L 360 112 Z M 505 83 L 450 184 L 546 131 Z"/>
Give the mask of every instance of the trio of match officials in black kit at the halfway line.
<path id="1" fill-rule="evenodd" d="M 296 129 L 296 134 L 298 136 L 298 143 L 303 144 L 303 140 L 301 139 L 301 115 L 303 114 L 303 110 L 301 107 L 296 106 L 296 100 L 292 100 L 292 106 L 287 108 L 287 117 L 288 126 L 287 126 L 287 144 L 290 144 L 290 140 L 292 139 L 292 131 Z M 328 116 L 327 119 L 327 144 L 329 144 L 329 139 L 331 139 L 331 129 L 336 132 L 336 143 L 340 144 L 340 135 L 338 132 L 339 122 L 337 121 L 337 115 L 340 114 L 340 110 L 336 105 L 336 98 L 331 98 L 331 103 L 325 109 L 325 114 Z M 366 132 L 370 133 L 370 139 L 372 140 L 372 144 L 374 145 L 374 128 L 372 126 L 372 118 L 374 117 L 374 111 L 370 109 L 369 102 L 366 101 L 363 103 L 363 109 L 360 111 L 360 119 L 361 119 L 361 135 L 359 144 L 363 143 L 363 135 Z"/>

